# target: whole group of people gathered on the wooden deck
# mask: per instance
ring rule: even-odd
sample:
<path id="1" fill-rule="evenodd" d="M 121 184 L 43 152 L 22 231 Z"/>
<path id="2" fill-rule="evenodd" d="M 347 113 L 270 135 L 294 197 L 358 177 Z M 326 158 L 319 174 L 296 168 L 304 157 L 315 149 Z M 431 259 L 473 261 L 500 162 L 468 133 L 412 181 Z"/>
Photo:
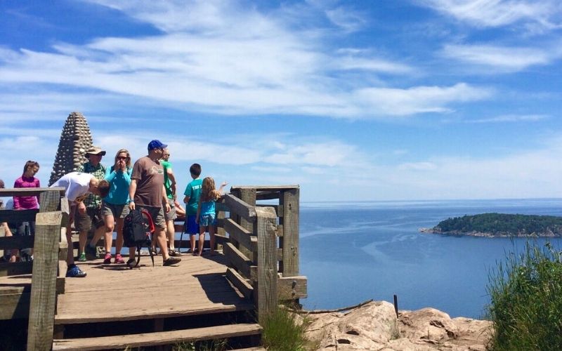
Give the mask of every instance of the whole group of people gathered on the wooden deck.
<path id="1" fill-rule="evenodd" d="M 51 187 L 65 188 L 70 206 L 67 241 L 72 242 L 70 227 L 74 223 L 74 228 L 79 232 L 79 261 L 86 261 L 92 256 L 98 257 L 96 244 L 103 236 L 104 264 L 111 264 L 113 258 L 113 263 L 126 263 L 129 267 L 136 265 L 134 248 L 129 248 L 129 260 L 126 262 L 121 254 L 124 245 L 124 218 L 135 208 L 145 210 L 152 217 L 155 224 L 152 251 L 156 253 L 157 244 L 164 266 L 175 265 L 181 261 L 181 258 L 177 257 L 181 253 L 176 251 L 174 246 L 174 220 L 178 218 L 178 214 L 185 215 L 186 232 L 190 234 L 190 252 L 198 256 L 202 255 L 204 235 L 205 232 L 209 232 L 211 254 L 214 253 L 216 226 L 214 204 L 227 183 L 223 183 L 216 190 L 214 180 L 211 177 L 200 179 L 201 166 L 192 164 L 190 166 L 192 181 L 184 192 L 186 205 L 184 210 L 176 199 L 176 177 L 169 162 L 170 153 L 167 145 L 159 140 L 150 141 L 148 154 L 134 164 L 131 163 L 131 154 L 126 149 L 117 151 L 114 164 L 108 168 L 101 164 L 103 156 L 105 156 L 104 150 L 96 146 L 91 147 L 86 151 L 88 161 L 85 164 L 77 171 L 65 174 L 51 185 Z M 30 168 L 30 171 L 26 171 L 27 168 L 22 178 L 18 180 L 25 178 L 24 187 L 32 187 L 30 184 L 39 187 L 39 180 L 34 178 L 35 173 L 39 171 L 39 164 L 35 168 Z M 35 181 L 37 182 L 33 183 Z M 33 204 L 30 200 L 23 201 L 25 206 L 28 206 L 25 208 L 39 208 L 39 202 L 36 197 L 34 199 Z M 14 204 L 15 201 L 14 197 Z M 19 203 L 22 201 L 18 200 Z M 37 207 L 32 207 L 35 205 Z M 86 244 L 90 230 L 94 230 L 94 234 L 89 244 Z M 117 242 L 115 256 L 112 256 L 114 230 L 117 232 Z M 195 251 L 197 235 L 199 245 L 198 250 Z M 74 263 L 73 250 L 67 252 L 67 265 L 67 277 L 86 277 L 86 272 Z"/>

